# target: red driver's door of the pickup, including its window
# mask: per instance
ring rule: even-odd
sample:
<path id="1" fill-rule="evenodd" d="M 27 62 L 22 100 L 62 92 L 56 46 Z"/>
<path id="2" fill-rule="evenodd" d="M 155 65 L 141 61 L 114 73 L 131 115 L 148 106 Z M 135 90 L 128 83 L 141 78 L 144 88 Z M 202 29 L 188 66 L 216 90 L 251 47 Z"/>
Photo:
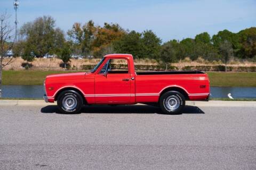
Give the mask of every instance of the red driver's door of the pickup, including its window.
<path id="1" fill-rule="evenodd" d="M 95 103 L 130 103 L 131 74 L 126 58 L 110 58 L 95 75 Z"/>

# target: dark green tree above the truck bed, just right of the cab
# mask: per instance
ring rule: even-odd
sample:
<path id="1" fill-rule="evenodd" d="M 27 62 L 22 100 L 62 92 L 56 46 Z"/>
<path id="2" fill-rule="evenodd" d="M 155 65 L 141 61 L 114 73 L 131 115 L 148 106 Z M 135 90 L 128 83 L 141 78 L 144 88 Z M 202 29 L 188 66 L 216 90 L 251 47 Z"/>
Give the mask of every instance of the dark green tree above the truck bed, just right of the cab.
<path id="1" fill-rule="evenodd" d="M 143 46 L 143 58 L 157 59 L 159 57 L 162 40 L 151 30 L 143 31 L 141 43 Z"/>

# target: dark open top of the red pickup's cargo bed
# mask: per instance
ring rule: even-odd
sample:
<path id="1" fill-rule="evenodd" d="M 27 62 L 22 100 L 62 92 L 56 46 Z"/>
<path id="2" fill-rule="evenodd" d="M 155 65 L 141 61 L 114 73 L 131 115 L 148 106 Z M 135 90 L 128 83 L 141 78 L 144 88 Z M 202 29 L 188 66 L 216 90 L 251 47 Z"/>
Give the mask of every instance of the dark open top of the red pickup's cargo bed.
<path id="1" fill-rule="evenodd" d="M 202 71 L 149 71 L 136 72 L 137 75 L 158 75 L 158 74 L 205 74 Z"/>

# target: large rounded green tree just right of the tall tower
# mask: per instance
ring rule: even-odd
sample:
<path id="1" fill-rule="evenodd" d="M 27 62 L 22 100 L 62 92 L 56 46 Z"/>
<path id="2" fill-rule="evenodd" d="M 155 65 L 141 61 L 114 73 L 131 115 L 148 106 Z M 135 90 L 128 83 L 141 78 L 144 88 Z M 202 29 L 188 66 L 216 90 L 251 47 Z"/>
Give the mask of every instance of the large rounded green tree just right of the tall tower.
<path id="1" fill-rule="evenodd" d="M 29 46 L 37 57 L 56 53 L 65 41 L 63 31 L 55 29 L 55 20 L 51 16 L 39 17 L 23 24 L 20 34 L 24 48 Z"/>

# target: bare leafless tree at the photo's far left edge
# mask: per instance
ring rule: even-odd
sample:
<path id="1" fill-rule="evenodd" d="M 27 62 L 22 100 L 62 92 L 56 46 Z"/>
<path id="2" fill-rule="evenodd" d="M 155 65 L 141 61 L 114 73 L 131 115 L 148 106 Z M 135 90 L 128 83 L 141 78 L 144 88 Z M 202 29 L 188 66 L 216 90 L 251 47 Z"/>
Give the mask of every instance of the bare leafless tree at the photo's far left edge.
<path id="1" fill-rule="evenodd" d="M 7 58 L 6 54 L 8 50 L 11 50 L 14 45 L 14 41 L 16 39 L 15 36 L 12 36 L 11 33 L 13 31 L 10 23 L 9 23 L 10 16 L 7 13 L 3 13 L 0 15 L 0 97 L 2 97 L 2 71 L 3 67 L 9 65 L 13 62 L 12 58 Z M 14 37 L 14 38 L 13 38 Z M 13 38 L 13 42 L 7 42 L 8 40 L 11 41 Z M 5 61 L 4 61 L 5 60 Z"/>

